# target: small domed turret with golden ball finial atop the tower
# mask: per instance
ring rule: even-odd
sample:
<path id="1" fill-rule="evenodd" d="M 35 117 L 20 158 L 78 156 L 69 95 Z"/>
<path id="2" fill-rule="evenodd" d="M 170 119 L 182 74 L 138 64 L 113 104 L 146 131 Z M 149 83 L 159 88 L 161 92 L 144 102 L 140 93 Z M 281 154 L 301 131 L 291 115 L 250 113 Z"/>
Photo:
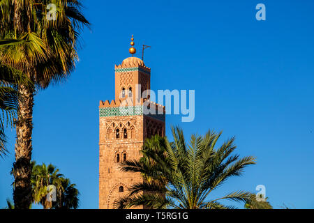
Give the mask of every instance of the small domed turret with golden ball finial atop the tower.
<path id="1" fill-rule="evenodd" d="M 132 42 L 129 52 L 132 54 L 122 61 L 121 64 L 114 66 L 115 72 L 115 101 L 132 98 L 135 105 L 135 98 L 149 98 L 151 88 L 151 68 L 145 66 L 144 62 L 135 56 L 136 49 L 132 35 Z M 144 94 L 143 94 L 144 93 Z M 137 95 L 136 95 L 137 94 Z"/>

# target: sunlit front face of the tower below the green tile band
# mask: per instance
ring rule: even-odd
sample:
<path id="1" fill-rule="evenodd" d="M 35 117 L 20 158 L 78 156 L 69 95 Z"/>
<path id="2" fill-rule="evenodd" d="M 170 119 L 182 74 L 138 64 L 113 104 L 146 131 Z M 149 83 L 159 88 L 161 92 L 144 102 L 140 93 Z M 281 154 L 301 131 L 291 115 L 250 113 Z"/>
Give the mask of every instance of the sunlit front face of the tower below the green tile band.
<path id="1" fill-rule="evenodd" d="M 142 132 L 142 116 L 100 117 L 99 208 L 113 209 L 114 201 L 142 180 L 139 174 L 118 169 L 119 162 L 140 158 Z"/>

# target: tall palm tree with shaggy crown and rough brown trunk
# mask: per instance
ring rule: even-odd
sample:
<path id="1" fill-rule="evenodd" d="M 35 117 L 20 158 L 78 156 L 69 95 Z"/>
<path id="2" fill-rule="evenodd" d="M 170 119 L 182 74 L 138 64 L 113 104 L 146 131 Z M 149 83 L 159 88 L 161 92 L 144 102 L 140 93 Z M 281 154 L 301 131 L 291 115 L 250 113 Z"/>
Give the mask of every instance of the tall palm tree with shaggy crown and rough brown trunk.
<path id="1" fill-rule="evenodd" d="M 57 8 L 56 20 L 47 20 L 47 5 Z M 31 134 L 33 129 L 33 96 L 38 89 L 66 79 L 77 61 L 77 40 L 89 22 L 82 15 L 80 0 L 2 0 L 0 1 L 0 38 L 16 40 L 0 48 L 0 62 L 20 70 L 35 84 L 20 84 L 16 122 L 15 208 L 31 203 Z"/>

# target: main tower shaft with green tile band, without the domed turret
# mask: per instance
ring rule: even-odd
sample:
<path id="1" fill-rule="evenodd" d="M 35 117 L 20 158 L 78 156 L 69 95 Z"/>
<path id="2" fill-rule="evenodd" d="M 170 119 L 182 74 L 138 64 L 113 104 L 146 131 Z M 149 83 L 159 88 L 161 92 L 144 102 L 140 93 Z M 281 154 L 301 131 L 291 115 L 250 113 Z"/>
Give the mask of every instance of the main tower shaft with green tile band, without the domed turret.
<path id="1" fill-rule="evenodd" d="M 156 105 L 156 104 L 155 104 Z M 165 136 L 165 114 L 143 113 L 144 105 L 129 106 L 132 115 L 121 114 L 117 105 L 100 102 L 99 208 L 113 209 L 114 202 L 128 194 L 128 188 L 141 182 L 140 174 L 119 170 L 119 163 L 139 160 L 144 140 Z M 159 105 L 157 105 L 160 107 Z M 161 107 L 164 110 L 164 107 Z M 137 207 L 143 208 L 143 207 Z"/>

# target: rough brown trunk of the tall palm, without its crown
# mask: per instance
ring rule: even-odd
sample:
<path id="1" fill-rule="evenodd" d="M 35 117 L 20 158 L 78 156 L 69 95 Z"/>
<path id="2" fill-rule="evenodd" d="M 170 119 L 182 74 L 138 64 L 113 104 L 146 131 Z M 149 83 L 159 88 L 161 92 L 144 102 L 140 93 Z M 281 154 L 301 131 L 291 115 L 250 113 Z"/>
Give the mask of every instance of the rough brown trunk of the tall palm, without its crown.
<path id="1" fill-rule="evenodd" d="M 13 199 L 16 209 L 28 209 L 31 205 L 31 133 L 33 131 L 34 89 L 21 85 L 19 93 L 20 111 L 16 123 Z"/>

